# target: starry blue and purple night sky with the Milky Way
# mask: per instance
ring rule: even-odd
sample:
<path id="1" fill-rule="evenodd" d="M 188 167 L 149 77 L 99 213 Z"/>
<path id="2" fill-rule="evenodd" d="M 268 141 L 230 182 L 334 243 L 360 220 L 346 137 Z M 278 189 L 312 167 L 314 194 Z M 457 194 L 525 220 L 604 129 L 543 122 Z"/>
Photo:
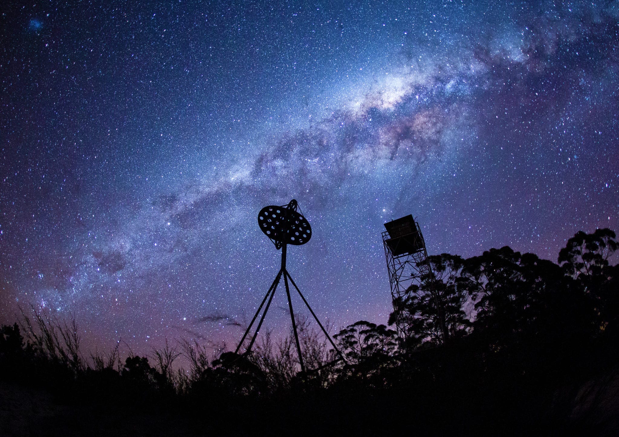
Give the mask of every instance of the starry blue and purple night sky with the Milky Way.
<path id="1" fill-rule="evenodd" d="M 1 323 L 234 346 L 279 268 L 258 211 L 291 198 L 334 329 L 386 323 L 393 218 L 464 257 L 619 230 L 617 2 L 226 3 L 2 2 Z"/>

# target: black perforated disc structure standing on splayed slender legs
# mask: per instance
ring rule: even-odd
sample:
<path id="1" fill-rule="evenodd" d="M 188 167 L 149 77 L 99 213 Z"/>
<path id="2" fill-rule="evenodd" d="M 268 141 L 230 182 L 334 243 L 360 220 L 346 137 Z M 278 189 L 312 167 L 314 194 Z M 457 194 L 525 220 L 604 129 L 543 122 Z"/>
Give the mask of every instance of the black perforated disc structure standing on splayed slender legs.
<path id="1" fill-rule="evenodd" d="M 269 311 L 269 307 L 271 306 L 273 296 L 275 295 L 275 290 L 277 289 L 277 286 L 279 285 L 280 279 L 282 279 L 282 276 L 284 276 L 284 286 L 286 287 L 286 295 L 288 297 L 288 308 L 290 310 L 290 318 L 292 319 L 292 330 L 293 330 L 293 333 L 295 334 L 295 342 L 297 344 L 297 353 L 299 357 L 299 364 L 301 365 L 301 371 L 305 372 L 305 364 L 303 363 L 303 355 L 301 354 L 301 345 L 299 343 L 299 336 L 297 333 L 297 323 L 295 321 L 295 313 L 293 312 L 293 309 L 292 309 L 292 299 L 290 298 L 290 286 L 288 285 L 288 281 L 290 281 L 292 286 L 295 287 L 298 294 L 301 296 L 301 299 L 303 299 L 303 303 L 305 303 L 306 307 L 308 307 L 308 310 L 311 313 L 311 315 L 314 317 L 314 320 L 316 320 L 316 322 L 318 323 L 318 326 L 320 326 L 320 329 L 322 329 L 322 332 L 324 333 L 324 335 L 327 337 L 327 339 L 331 343 L 331 346 L 333 346 L 333 348 L 339 355 L 339 358 L 333 360 L 330 363 L 327 363 L 326 365 L 323 365 L 322 367 L 318 369 L 313 369 L 313 371 L 320 370 L 321 368 L 327 367 L 328 365 L 332 365 L 336 362 L 339 362 L 340 360 L 344 360 L 344 355 L 342 355 L 342 352 L 340 352 L 340 350 L 337 349 L 337 346 L 335 346 L 335 343 L 331 339 L 331 336 L 329 336 L 329 333 L 327 333 L 327 330 L 324 329 L 324 326 L 322 326 L 322 323 L 320 323 L 320 320 L 318 320 L 316 313 L 314 313 L 314 311 L 311 309 L 308 301 L 305 299 L 305 297 L 299 290 L 299 287 L 297 287 L 297 284 L 295 284 L 295 281 L 293 281 L 292 276 L 290 276 L 290 273 L 288 273 L 286 269 L 286 255 L 287 255 L 288 244 L 298 246 L 298 245 L 305 244 L 306 242 L 309 241 L 309 239 L 311 239 L 311 226 L 309 226 L 309 223 L 305 219 L 305 217 L 303 217 L 303 214 L 298 212 L 297 201 L 293 199 L 290 201 L 290 203 L 288 203 L 288 205 L 282 205 L 282 206 L 275 206 L 275 205 L 265 206 L 258 213 L 258 226 L 260 227 L 260 230 L 264 232 L 264 235 L 269 237 L 269 239 L 275 245 L 275 248 L 277 250 L 282 249 L 282 265 L 279 269 L 279 272 L 277 273 L 277 276 L 275 276 L 275 279 L 272 282 L 271 287 L 269 287 L 269 291 L 267 291 L 267 294 L 264 296 L 264 299 L 262 299 L 262 303 L 258 307 L 258 311 L 256 311 L 256 314 L 254 315 L 254 318 L 251 320 L 251 323 L 249 323 L 249 326 L 247 327 L 245 334 L 243 334 L 243 338 L 241 338 L 241 341 L 236 347 L 235 354 L 238 354 L 238 351 L 241 349 L 241 346 L 243 346 L 243 343 L 245 342 L 245 339 L 248 336 L 249 331 L 251 331 L 251 328 L 254 325 L 254 322 L 258 318 L 258 315 L 262 311 L 262 307 L 264 307 L 264 303 L 266 302 L 266 307 L 264 308 L 264 312 L 262 313 L 260 321 L 258 322 L 258 327 L 256 328 L 254 335 L 251 337 L 251 341 L 249 341 L 249 346 L 246 348 L 243 355 L 249 354 L 251 352 L 251 347 L 254 345 L 254 342 L 256 341 L 256 337 L 258 336 L 260 328 L 262 327 L 262 322 L 264 321 L 264 317 L 266 316 L 267 311 Z"/>

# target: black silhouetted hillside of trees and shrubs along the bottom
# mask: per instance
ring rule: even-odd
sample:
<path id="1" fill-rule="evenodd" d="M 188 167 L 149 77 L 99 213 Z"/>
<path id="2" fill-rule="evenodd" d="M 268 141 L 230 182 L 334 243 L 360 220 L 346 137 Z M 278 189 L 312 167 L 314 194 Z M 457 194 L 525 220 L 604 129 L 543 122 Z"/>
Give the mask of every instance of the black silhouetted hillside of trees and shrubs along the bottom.
<path id="1" fill-rule="evenodd" d="M 428 258 L 386 325 L 309 320 L 246 356 L 177 341 L 85 354 L 75 321 L 24 309 L 0 335 L 2 435 L 599 435 L 619 433 L 619 248 L 578 232 L 558 262 L 509 247 Z M 423 291 L 431 289 L 431 292 Z M 188 368 L 179 368 L 184 357 Z"/>

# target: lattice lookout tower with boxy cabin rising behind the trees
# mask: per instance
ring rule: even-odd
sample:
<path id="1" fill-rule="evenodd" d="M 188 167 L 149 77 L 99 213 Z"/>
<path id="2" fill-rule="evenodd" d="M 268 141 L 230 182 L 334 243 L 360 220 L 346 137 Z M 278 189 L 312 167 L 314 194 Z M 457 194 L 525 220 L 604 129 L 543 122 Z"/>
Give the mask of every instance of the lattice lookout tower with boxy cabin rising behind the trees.
<path id="1" fill-rule="evenodd" d="M 424 280 L 431 278 L 432 270 L 427 261 L 422 231 L 412 215 L 392 220 L 384 226 L 387 230 L 383 232 L 383 246 L 396 329 L 398 336 L 405 339 L 409 334 L 410 320 L 404 316 L 402 304 L 410 294 L 420 291 Z"/>

